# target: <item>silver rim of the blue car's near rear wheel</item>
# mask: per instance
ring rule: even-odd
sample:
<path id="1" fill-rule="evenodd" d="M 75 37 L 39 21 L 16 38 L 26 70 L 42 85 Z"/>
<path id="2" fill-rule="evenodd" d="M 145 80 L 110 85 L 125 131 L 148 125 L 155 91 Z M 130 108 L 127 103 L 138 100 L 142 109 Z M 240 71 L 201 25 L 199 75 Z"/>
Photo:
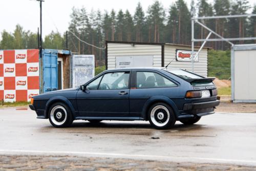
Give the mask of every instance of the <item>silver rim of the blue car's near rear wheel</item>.
<path id="1" fill-rule="evenodd" d="M 151 111 L 151 121 L 157 126 L 164 126 L 168 123 L 170 114 L 163 105 L 155 106 Z"/>

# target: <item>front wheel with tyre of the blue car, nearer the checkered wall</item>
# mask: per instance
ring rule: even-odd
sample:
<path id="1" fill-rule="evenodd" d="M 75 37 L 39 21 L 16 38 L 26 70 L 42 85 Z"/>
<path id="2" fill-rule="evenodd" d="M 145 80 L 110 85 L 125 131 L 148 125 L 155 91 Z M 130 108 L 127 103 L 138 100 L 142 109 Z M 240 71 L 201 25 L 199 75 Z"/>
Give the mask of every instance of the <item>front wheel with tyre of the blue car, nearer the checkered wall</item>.
<path id="1" fill-rule="evenodd" d="M 62 102 L 54 103 L 49 110 L 49 121 L 54 127 L 68 127 L 73 122 L 69 107 Z"/>

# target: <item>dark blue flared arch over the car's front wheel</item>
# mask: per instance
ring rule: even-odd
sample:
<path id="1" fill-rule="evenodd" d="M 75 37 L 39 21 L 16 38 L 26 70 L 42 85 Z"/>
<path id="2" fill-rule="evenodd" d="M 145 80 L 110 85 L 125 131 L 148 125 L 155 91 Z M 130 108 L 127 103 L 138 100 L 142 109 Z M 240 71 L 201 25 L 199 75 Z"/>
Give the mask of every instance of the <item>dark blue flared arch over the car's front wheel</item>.
<path id="1" fill-rule="evenodd" d="M 68 105 L 68 107 L 70 108 L 71 112 L 72 112 L 72 117 L 74 118 L 74 114 L 75 114 L 75 110 L 74 110 L 74 107 L 73 105 L 71 104 L 71 102 L 66 98 L 66 97 L 63 97 L 63 96 L 54 96 L 52 98 L 50 98 L 47 103 L 46 103 L 46 118 L 48 119 L 49 118 L 49 110 L 52 106 L 52 104 L 56 103 L 56 102 L 63 102 L 65 103 L 66 105 Z"/>

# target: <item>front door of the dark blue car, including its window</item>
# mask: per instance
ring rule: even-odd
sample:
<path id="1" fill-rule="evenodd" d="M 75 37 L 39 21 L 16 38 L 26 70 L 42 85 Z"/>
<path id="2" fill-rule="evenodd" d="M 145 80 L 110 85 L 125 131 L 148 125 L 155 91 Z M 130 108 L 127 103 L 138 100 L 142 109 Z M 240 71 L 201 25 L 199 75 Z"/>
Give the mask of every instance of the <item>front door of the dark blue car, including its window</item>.
<path id="1" fill-rule="evenodd" d="M 129 115 L 130 71 L 107 72 L 77 93 L 81 116 L 123 117 Z"/>

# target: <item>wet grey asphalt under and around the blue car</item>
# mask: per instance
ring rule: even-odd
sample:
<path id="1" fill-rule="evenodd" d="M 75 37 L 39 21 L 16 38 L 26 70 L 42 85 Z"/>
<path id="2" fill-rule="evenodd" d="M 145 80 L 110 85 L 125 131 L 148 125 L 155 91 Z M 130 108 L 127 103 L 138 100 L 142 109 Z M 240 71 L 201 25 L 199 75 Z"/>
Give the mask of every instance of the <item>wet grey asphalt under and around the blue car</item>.
<path id="1" fill-rule="evenodd" d="M 25 109 L 25 110 L 24 110 Z M 155 130 L 145 121 L 75 121 L 56 129 L 26 108 L 0 109 L 0 155 L 113 157 L 256 166 L 256 114 L 216 113 Z"/>

